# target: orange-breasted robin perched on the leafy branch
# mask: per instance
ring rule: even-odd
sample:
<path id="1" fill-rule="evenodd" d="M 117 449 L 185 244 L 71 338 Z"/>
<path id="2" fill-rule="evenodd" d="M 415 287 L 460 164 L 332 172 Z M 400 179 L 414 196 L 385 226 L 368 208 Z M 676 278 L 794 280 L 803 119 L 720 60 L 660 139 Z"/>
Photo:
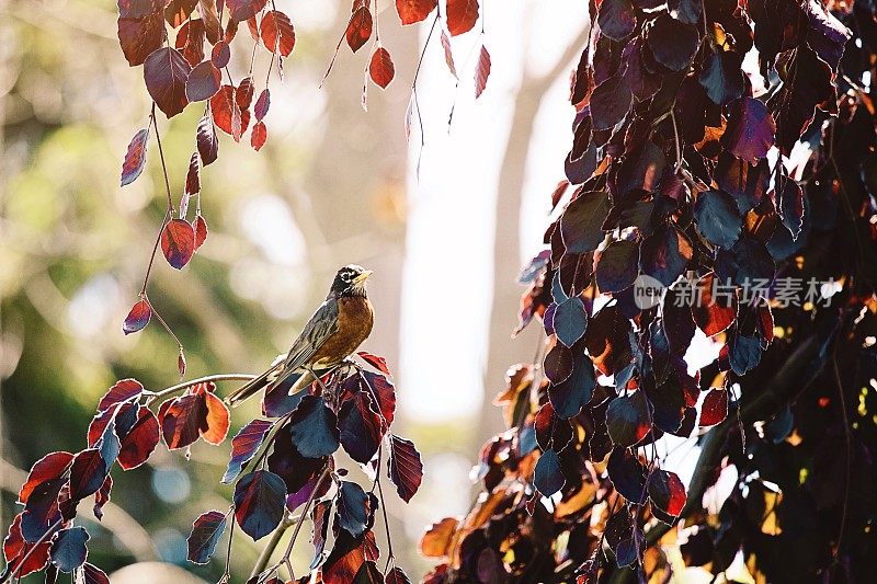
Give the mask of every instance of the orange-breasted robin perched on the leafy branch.
<path id="1" fill-rule="evenodd" d="M 326 300 L 317 308 L 289 351 L 278 355 L 263 374 L 229 393 L 226 402 L 238 405 L 262 389 L 269 391 L 300 375 L 289 394 L 301 391 L 326 371 L 341 364 L 372 334 L 375 310 L 365 283 L 371 270 L 349 264 L 338 271 Z"/>

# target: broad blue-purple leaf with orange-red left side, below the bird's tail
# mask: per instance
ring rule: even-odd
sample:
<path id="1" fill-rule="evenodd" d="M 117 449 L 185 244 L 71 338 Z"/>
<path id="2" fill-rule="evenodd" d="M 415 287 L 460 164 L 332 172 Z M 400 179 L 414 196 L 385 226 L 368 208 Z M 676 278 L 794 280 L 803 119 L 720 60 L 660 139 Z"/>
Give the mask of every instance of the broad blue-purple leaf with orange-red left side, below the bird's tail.
<path id="1" fill-rule="evenodd" d="M 235 486 L 235 517 L 243 533 L 259 540 L 281 523 L 286 501 L 283 479 L 267 470 L 244 474 Z"/>

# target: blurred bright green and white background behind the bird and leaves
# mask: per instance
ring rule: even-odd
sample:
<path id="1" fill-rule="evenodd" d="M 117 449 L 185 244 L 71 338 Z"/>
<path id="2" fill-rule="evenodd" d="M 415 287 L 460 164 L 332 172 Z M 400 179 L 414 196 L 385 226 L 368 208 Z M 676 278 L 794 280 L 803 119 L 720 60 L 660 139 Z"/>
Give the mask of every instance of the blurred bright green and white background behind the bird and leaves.
<path id="1" fill-rule="evenodd" d="M 501 427 L 490 399 L 502 389 L 505 367 L 531 358 L 535 346 L 535 337 L 509 342 L 519 295 L 510 283 L 521 260 L 538 247 L 538 236 L 522 245 L 519 231 L 534 236 L 546 222 L 544 214 L 528 226 L 516 222 L 527 201 L 525 170 L 538 167 L 535 178 L 527 174 L 528 192 L 539 197 L 536 207 L 529 197 L 531 210 L 547 208 L 547 194 L 562 176 L 557 147 L 534 146 L 531 138 L 543 98 L 566 91 L 585 7 L 563 0 L 537 11 L 535 2 L 524 2 L 489 15 L 498 24 L 488 28 L 492 91 L 478 111 L 468 94 L 459 98 L 465 106 L 455 124 L 464 128 L 454 137 L 446 112 L 459 91 L 437 43 L 431 45 L 421 82 L 424 117 L 432 122 L 424 121 L 423 131 L 435 129 L 429 136 L 436 138 L 428 140 L 418 175 L 419 136 L 409 150 L 402 118 L 425 31 L 401 28 L 392 3 L 379 2 L 381 41 L 392 51 L 397 80 L 386 92 L 372 88 L 366 114 L 360 104 L 362 51 L 342 53 L 319 89 L 349 2 L 277 3 L 289 11 L 297 42 L 285 81 L 272 81 L 267 144 L 255 153 L 248 138 L 236 145 L 223 136 L 218 163 L 202 173 L 207 243 L 182 274 L 159 256 L 149 296 L 185 346 L 189 378 L 252 373 L 287 348 L 340 265 L 356 262 L 377 272 L 371 296 L 378 320 L 365 348 L 385 355 L 395 373 L 402 370 L 399 432 L 424 455 L 425 482 L 412 505 L 388 501 L 400 564 L 420 574 L 426 565 L 417 552 L 420 533 L 430 520 L 468 508 L 468 470 L 481 442 Z M 546 26 L 546 14 L 562 25 Z M 147 124 L 149 100 L 141 69 L 129 68 L 122 55 L 115 21 L 114 0 L 0 0 L 3 534 L 16 512 L 23 471 L 46 453 L 80 448 L 99 397 L 116 379 L 136 377 L 153 390 L 178 380 L 175 344 L 157 322 L 139 334 L 122 334 L 164 203 L 155 142 L 144 174 L 118 186 L 122 157 Z M 524 22 L 529 32 L 522 37 Z M 468 62 L 462 57 L 472 41 L 463 42 L 458 66 Z M 246 33 L 236 39 L 249 42 Z M 540 50 L 525 59 L 533 46 Z M 235 78 L 247 67 L 232 61 Z M 257 79 L 266 68 L 257 61 Z M 540 118 L 539 127 L 543 140 L 563 148 L 569 116 L 557 111 Z M 159 119 L 175 197 L 200 115 L 200 107 L 190 107 L 170 124 Z M 447 171 L 462 165 L 460 157 L 471 167 L 448 183 Z M 542 180 L 546 175 L 554 182 Z M 425 195 L 421 185 L 429 185 Z M 440 203 L 444 215 L 435 214 Z M 448 230 L 441 222 L 447 217 L 463 222 Z M 466 307 L 457 295 L 468 295 Z M 478 318 L 469 322 L 466 310 Z M 436 344 L 444 344 L 442 354 Z M 466 360 L 453 370 L 454 359 Z M 463 410 L 454 410 L 454 402 Z M 430 415 L 437 403 L 449 403 L 453 415 Z M 257 408 L 232 412 L 230 434 Z M 426 415 L 418 415 L 424 410 Z M 227 458 L 227 443 L 200 443 L 189 461 L 164 450 L 148 466 L 116 472 L 104 529 L 91 531 L 90 561 L 107 572 L 162 561 L 215 581 L 221 561 L 186 564 L 185 537 L 202 511 L 227 507 L 230 488 L 218 482 Z M 242 581 L 259 546 L 235 537 L 232 581 Z M 298 547 L 305 561 L 310 546 Z M 118 573 L 114 582 L 143 582 L 143 570 Z M 184 581 L 179 574 L 151 581 L 171 579 Z"/>

